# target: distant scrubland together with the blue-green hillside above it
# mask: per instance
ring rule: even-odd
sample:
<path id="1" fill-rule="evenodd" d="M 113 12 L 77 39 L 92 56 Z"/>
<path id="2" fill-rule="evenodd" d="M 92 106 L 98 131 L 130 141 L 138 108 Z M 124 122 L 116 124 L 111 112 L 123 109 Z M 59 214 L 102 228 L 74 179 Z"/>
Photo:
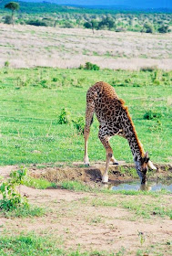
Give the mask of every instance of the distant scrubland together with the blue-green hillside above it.
<path id="1" fill-rule="evenodd" d="M 0 3 L 1 22 L 12 24 L 13 16 L 5 12 L 6 2 Z M 93 32 L 97 29 L 107 29 L 116 32 L 168 33 L 171 31 L 172 15 L 20 2 L 20 11 L 15 15 L 15 23 L 44 27 L 85 27 Z"/>

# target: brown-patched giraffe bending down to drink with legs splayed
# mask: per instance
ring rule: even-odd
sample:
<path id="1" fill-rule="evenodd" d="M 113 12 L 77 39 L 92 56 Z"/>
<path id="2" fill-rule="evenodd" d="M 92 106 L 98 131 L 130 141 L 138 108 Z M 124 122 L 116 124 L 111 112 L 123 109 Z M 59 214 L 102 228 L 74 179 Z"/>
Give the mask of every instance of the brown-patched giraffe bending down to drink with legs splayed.
<path id="1" fill-rule="evenodd" d="M 102 176 L 102 182 L 108 182 L 108 167 L 110 162 L 113 165 L 118 165 L 109 144 L 110 137 L 117 134 L 126 138 L 128 141 L 134 157 L 137 174 L 141 184 L 145 184 L 147 168 L 157 168 L 149 160 L 148 153 L 145 153 L 143 145 L 137 138 L 137 131 L 125 106 L 125 101 L 119 99 L 114 88 L 104 81 L 96 82 L 86 93 L 86 125 L 84 130 L 85 165 L 89 165 L 87 141 L 90 126 L 93 123 L 94 112 L 100 124 L 98 137 L 106 149 L 106 168 Z"/>

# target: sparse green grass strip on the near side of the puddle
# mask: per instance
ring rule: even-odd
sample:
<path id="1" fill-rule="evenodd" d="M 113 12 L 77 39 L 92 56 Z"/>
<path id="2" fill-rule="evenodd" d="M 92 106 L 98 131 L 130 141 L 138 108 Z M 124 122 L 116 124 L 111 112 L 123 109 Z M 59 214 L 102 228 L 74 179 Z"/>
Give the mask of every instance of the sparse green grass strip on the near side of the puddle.
<path id="1" fill-rule="evenodd" d="M 162 218 L 168 217 L 169 219 L 172 219 L 170 202 L 167 201 L 168 199 L 165 200 L 162 198 L 164 195 L 170 195 L 170 192 L 167 192 L 166 190 L 157 192 L 129 190 L 114 191 L 102 187 L 91 188 L 77 181 L 66 181 L 61 184 L 61 187 L 75 191 L 96 193 L 97 197 L 94 199 L 90 200 L 88 197 L 82 198 L 81 202 L 86 205 L 90 204 L 94 207 L 126 208 L 132 211 L 137 217 L 144 219 L 150 219 L 151 216 L 159 216 Z M 99 198 L 98 194 L 100 196 L 104 194 L 106 198 Z M 119 195 L 119 197 L 114 197 L 115 195 Z"/>

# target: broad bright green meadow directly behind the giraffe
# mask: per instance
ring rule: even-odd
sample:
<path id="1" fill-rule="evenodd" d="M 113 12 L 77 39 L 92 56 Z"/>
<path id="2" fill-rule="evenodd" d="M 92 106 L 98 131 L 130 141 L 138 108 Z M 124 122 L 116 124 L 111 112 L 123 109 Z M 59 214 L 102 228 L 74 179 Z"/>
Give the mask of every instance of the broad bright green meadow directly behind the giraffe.
<path id="1" fill-rule="evenodd" d="M 114 85 L 126 101 L 151 159 L 169 162 L 172 72 L 36 68 L 0 69 L 0 165 L 82 161 L 83 136 L 73 123 L 58 124 L 58 117 L 63 108 L 71 120 L 84 117 L 86 91 L 98 80 Z M 145 120 L 150 110 L 160 113 L 159 118 Z M 97 133 L 95 118 L 88 142 L 90 161 L 106 158 Z M 111 142 L 116 159 L 133 161 L 125 139 L 116 136 Z"/>

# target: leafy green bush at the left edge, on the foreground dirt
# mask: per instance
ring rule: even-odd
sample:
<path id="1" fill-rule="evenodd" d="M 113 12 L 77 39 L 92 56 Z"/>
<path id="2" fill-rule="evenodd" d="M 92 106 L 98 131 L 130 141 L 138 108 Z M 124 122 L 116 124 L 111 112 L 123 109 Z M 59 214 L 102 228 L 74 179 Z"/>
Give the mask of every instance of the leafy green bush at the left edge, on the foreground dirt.
<path id="1" fill-rule="evenodd" d="M 26 169 L 21 169 L 14 171 L 10 174 L 10 178 L 3 182 L 0 187 L 0 193 L 3 199 L 0 200 L 0 209 L 5 211 L 13 210 L 18 206 L 23 206 L 28 208 L 28 202 L 25 197 L 22 197 L 17 191 L 17 188 L 24 182 L 24 177 L 26 175 Z"/>

